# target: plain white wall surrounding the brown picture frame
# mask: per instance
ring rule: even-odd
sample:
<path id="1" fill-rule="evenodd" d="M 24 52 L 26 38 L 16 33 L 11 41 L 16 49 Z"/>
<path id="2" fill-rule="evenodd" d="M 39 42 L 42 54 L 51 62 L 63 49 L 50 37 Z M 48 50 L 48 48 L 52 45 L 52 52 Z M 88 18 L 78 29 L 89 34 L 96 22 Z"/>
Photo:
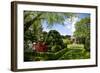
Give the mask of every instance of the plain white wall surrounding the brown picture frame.
<path id="1" fill-rule="evenodd" d="M 40 2 L 56 2 L 56 3 L 71 3 L 71 4 L 83 4 L 83 5 L 99 5 L 99 0 L 30 0 Z M 10 29 L 11 29 L 11 14 L 10 14 L 10 2 L 11 0 L 0 0 L 0 73 L 14 73 L 10 71 Z M 100 5 L 99 5 L 100 7 Z M 100 10 L 99 10 L 100 12 Z M 99 15 L 100 16 L 100 15 Z M 99 19 L 99 18 L 98 18 Z M 100 23 L 100 21 L 99 21 Z M 100 31 L 100 25 L 98 25 Z M 98 33 L 99 34 L 99 33 Z M 100 37 L 100 34 L 98 35 Z M 100 43 L 100 38 L 98 38 Z M 100 46 L 99 46 L 100 47 Z M 100 52 L 98 47 L 98 52 Z M 100 54 L 98 55 L 98 57 Z M 99 57 L 100 61 L 100 57 Z M 99 73 L 100 62 L 98 67 L 92 68 L 75 68 L 75 69 L 63 69 L 63 70 L 46 70 L 46 71 L 34 71 L 34 73 Z M 21 73 L 21 72 L 19 72 Z M 23 72 L 33 73 L 33 71 Z"/>

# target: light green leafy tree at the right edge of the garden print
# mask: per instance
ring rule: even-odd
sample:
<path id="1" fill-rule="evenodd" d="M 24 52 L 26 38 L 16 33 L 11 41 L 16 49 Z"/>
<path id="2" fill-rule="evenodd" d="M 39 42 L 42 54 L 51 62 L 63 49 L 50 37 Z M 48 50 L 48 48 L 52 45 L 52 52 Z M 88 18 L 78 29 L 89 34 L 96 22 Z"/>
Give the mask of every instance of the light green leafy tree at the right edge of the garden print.
<path id="1" fill-rule="evenodd" d="M 86 49 L 90 49 L 90 17 L 81 19 L 75 24 L 74 36 L 79 40 L 79 43 L 85 45 Z M 88 44 L 88 45 L 87 45 Z"/>

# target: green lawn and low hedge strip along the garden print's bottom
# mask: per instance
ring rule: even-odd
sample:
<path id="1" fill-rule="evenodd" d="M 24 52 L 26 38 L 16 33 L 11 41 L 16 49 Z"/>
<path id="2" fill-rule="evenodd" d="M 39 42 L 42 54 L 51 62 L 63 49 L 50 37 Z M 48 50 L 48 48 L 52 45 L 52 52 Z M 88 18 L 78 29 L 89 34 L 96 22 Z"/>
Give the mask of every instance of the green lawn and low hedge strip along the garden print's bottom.
<path id="1" fill-rule="evenodd" d="M 72 60 L 72 59 L 88 59 L 90 52 L 83 48 L 83 45 L 68 45 L 57 52 L 27 52 L 24 54 L 24 61 L 48 61 L 48 60 Z"/>

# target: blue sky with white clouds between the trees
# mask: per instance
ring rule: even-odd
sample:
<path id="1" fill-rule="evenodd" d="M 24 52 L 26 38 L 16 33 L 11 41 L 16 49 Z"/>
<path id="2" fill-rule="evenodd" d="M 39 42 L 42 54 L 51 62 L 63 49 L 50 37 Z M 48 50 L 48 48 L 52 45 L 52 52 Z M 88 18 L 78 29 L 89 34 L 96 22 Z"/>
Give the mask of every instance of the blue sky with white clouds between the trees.
<path id="1" fill-rule="evenodd" d="M 65 21 L 64 25 L 61 24 L 55 24 L 51 28 L 47 28 L 47 23 L 43 22 L 42 27 L 43 31 L 49 32 L 50 30 L 57 30 L 61 35 L 73 35 L 73 32 L 75 31 L 75 23 L 82 18 L 89 17 L 90 14 L 88 13 L 77 13 L 78 17 L 75 17 L 73 22 Z"/>

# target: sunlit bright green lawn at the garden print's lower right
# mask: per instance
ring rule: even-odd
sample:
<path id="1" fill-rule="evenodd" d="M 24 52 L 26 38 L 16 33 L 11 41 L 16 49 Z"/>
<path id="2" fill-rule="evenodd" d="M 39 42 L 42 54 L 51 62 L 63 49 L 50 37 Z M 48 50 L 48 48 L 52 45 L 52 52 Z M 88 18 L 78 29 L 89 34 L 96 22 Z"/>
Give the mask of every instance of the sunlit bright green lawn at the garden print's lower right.
<path id="1" fill-rule="evenodd" d="M 69 45 L 70 46 L 70 45 Z M 86 51 L 82 45 L 76 47 L 68 46 L 67 52 L 63 54 L 59 59 L 61 60 L 70 60 L 70 59 L 87 59 L 90 58 L 90 53 Z M 75 46 L 75 47 L 74 47 Z"/>

